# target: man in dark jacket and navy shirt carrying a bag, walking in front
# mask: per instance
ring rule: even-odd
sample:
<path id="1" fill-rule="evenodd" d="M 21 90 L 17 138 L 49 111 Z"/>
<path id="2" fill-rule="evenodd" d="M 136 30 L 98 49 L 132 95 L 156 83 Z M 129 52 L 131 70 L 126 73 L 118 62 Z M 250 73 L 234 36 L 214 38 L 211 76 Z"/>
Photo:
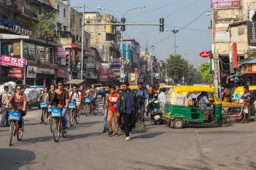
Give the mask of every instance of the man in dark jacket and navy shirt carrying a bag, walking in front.
<path id="1" fill-rule="evenodd" d="M 136 111 L 139 109 L 140 103 L 134 90 L 129 88 L 129 82 L 123 82 L 123 91 L 120 92 L 119 98 L 116 103 L 116 116 L 122 113 L 123 120 L 125 121 L 125 140 L 129 141 L 131 137 L 131 130 L 135 125 Z"/>

